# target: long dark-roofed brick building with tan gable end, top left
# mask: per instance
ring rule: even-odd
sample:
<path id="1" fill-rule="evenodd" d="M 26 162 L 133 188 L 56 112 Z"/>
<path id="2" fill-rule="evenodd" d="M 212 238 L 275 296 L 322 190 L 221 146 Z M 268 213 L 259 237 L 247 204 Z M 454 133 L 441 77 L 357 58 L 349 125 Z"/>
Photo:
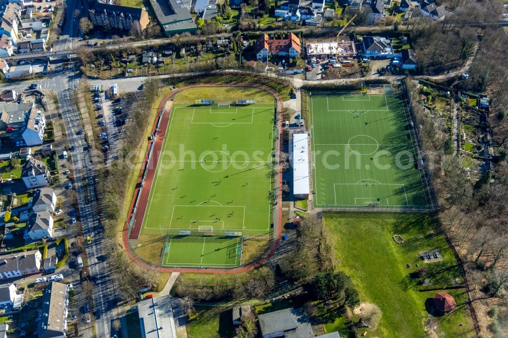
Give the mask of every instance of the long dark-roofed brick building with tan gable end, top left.
<path id="1" fill-rule="evenodd" d="M 109 5 L 96 2 L 88 10 L 94 27 L 105 29 L 144 30 L 148 25 L 148 13 L 144 8 Z"/>

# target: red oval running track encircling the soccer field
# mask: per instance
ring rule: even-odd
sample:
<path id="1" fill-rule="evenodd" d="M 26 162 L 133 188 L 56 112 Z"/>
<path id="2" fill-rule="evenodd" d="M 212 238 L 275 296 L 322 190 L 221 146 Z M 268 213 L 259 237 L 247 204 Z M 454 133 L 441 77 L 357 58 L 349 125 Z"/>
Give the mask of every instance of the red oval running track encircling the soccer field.
<path id="1" fill-rule="evenodd" d="M 163 112 L 162 109 L 163 107 L 165 106 L 167 100 L 175 95 L 177 92 L 179 91 L 182 91 L 184 89 L 187 89 L 187 88 L 191 88 L 191 87 L 224 87 L 224 86 L 228 86 L 228 87 L 258 87 L 260 89 L 263 89 L 267 92 L 269 92 L 270 94 L 272 94 L 276 100 L 277 100 L 277 104 L 279 105 L 279 109 L 280 109 L 280 121 L 283 120 L 283 116 L 284 116 L 284 105 L 282 103 L 282 99 L 280 98 L 280 96 L 278 95 L 278 93 L 269 88 L 269 87 L 266 87 L 264 85 L 259 85 L 259 84 L 252 84 L 252 83 L 235 83 L 235 84 L 223 84 L 223 83 L 206 83 L 206 84 L 193 84 L 193 85 L 188 85 L 188 86 L 184 86 L 184 87 L 181 87 L 181 88 L 177 88 L 173 91 L 171 91 L 168 95 L 166 95 L 166 97 L 162 100 L 161 104 L 159 105 L 158 107 L 158 113 L 157 113 L 157 117 L 156 119 L 159 117 L 159 116 L 162 116 L 162 119 L 161 119 L 161 123 L 160 123 L 160 126 L 159 126 L 159 129 L 160 129 L 160 132 L 158 133 L 158 136 L 155 138 L 154 141 L 152 141 L 154 143 L 153 145 L 153 149 L 152 149 L 152 157 L 151 157 L 151 160 L 150 160 L 150 163 L 149 163 L 149 167 L 147 168 L 147 173 L 146 173 L 146 177 L 145 177 L 145 184 L 144 186 L 146 187 L 145 189 L 142 190 L 141 192 L 141 195 L 139 196 L 138 198 L 138 204 L 136 206 L 136 218 L 135 218 L 135 222 L 134 222 L 134 226 L 129 234 L 129 229 L 128 229 L 128 224 L 125 223 L 124 224 L 124 228 L 123 228 L 123 246 L 126 250 L 126 252 L 129 254 L 129 257 L 135 261 L 137 264 L 139 264 L 140 266 L 143 266 L 147 269 L 152 269 L 152 270 L 155 270 L 155 271 L 158 271 L 158 272 L 163 272 L 163 273 L 170 273 L 170 272 L 181 272 L 181 273 L 211 273 L 211 274 L 214 274 L 214 273 L 224 273 L 224 274 L 233 274 L 233 273 L 241 273 L 241 272 L 246 272 L 246 271 L 249 271 L 253 268 L 256 268 L 262 264 L 264 264 L 269 257 L 271 257 L 274 253 L 275 253 L 275 250 L 277 249 L 279 243 L 280 243 L 280 236 L 282 234 L 282 195 L 278 196 L 277 197 L 277 200 L 275 201 L 276 202 L 276 205 L 278 206 L 278 219 L 277 219 L 277 223 L 278 223 L 278 226 L 275 226 L 275 220 L 274 220 L 274 230 L 276 230 L 276 236 L 275 236 L 275 240 L 274 242 L 272 243 L 271 247 L 267 250 L 267 252 L 265 253 L 265 255 L 250 263 L 250 264 L 247 264 L 247 265 L 243 265 L 243 266 L 240 266 L 240 267 L 234 267 L 234 268 L 228 268 L 228 269 L 225 269 L 225 268 L 212 268 L 212 267 L 203 267 L 203 268 L 178 268 L 178 267 L 162 267 L 162 266 L 154 266 L 154 265 L 151 265 L 141 259 L 139 259 L 136 254 L 133 252 L 131 246 L 129 245 L 129 240 L 137 240 L 139 238 L 139 235 L 141 233 L 141 225 L 143 223 L 143 218 L 145 216 L 145 212 L 146 212 L 146 207 L 147 207 L 147 204 L 148 204 L 148 196 L 150 195 L 150 190 L 152 188 L 152 182 L 153 182 L 153 178 L 155 177 L 155 172 L 156 172 L 156 169 L 157 169 L 157 161 L 158 161 L 158 158 L 161 154 L 161 149 L 162 149 L 162 146 L 163 146 L 163 143 L 164 143 L 164 138 L 166 136 L 166 131 L 168 129 L 168 124 L 169 124 L 169 118 L 170 118 L 170 114 L 171 112 Z M 281 126 L 278 125 L 278 128 L 279 128 L 279 135 L 281 134 Z M 155 132 L 155 125 L 153 126 L 152 128 L 152 134 Z M 151 143 L 148 143 L 148 146 L 147 146 L 147 152 L 146 154 L 148 155 L 148 150 L 150 149 L 150 144 Z M 282 149 L 282 138 L 279 137 L 279 149 Z M 280 151 L 279 151 L 279 157 L 280 157 Z M 143 161 L 143 165 L 142 165 L 142 168 L 145 167 L 146 165 L 146 162 L 147 162 L 148 158 L 147 156 L 145 156 L 145 159 Z M 279 158 L 280 160 L 280 158 Z M 279 161 L 280 162 L 280 161 Z M 278 182 L 278 189 L 279 191 L 282 191 L 282 171 L 278 170 L 279 172 L 279 182 Z M 131 202 L 131 207 L 129 208 L 129 213 L 128 213 L 128 217 L 127 219 L 131 219 L 131 216 L 132 216 L 132 213 L 133 213 L 133 209 L 134 209 L 134 202 L 136 200 L 136 195 L 138 194 L 138 191 L 139 189 L 141 188 L 141 181 L 143 179 L 143 172 L 140 173 L 139 177 L 138 177 L 138 183 L 136 185 L 136 189 L 134 191 L 134 196 L 133 196 L 133 199 L 132 199 L 132 202 Z M 128 239 L 129 238 L 129 239 Z"/>

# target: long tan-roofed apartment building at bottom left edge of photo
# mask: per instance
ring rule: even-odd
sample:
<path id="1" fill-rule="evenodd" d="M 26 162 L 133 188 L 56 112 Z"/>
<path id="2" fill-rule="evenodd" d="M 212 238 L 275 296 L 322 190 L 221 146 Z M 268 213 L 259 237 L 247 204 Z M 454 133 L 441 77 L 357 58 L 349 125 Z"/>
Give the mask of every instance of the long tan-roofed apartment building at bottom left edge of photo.
<path id="1" fill-rule="evenodd" d="M 67 285 L 51 282 L 42 294 L 39 338 L 65 338 L 69 311 Z"/>

